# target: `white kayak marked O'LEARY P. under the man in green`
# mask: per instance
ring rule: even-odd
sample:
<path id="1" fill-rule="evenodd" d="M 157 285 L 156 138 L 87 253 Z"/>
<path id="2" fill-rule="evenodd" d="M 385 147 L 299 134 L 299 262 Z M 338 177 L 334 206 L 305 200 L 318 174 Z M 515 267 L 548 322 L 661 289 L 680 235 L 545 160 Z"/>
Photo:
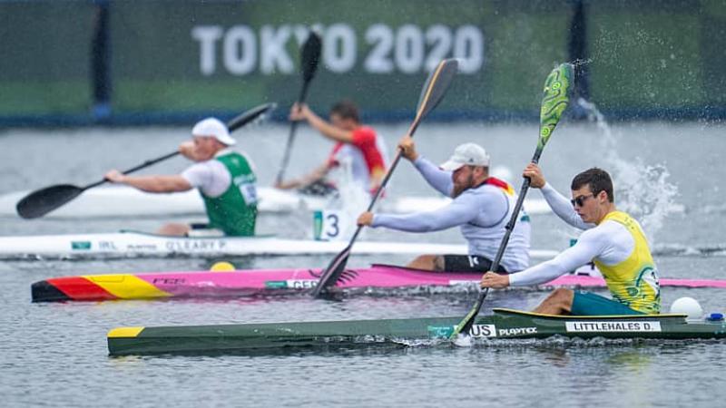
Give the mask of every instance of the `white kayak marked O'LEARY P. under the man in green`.
<path id="1" fill-rule="evenodd" d="M 293 256 L 337 254 L 343 241 L 267 237 L 166 237 L 134 231 L 0 237 L 0 258 Z M 358 241 L 354 254 L 461 254 L 466 245 Z M 532 257 L 554 257 L 556 251 L 533 250 Z"/>

